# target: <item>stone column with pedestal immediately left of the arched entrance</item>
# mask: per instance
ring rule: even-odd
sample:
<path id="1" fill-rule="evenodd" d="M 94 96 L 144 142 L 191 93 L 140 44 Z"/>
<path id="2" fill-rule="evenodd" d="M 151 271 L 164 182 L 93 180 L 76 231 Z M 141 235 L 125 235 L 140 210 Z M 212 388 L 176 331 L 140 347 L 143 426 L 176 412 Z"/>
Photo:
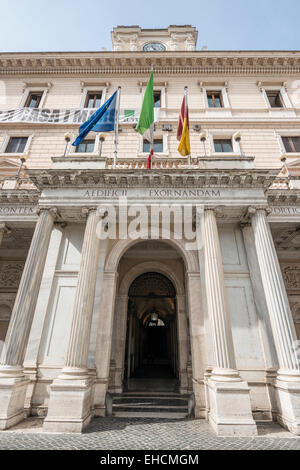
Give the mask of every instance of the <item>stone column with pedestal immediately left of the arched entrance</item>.
<path id="1" fill-rule="evenodd" d="M 88 373 L 87 360 L 100 240 L 97 210 L 87 209 L 86 212 L 66 363 L 50 387 L 45 431 L 81 432 L 91 420 L 92 377 Z"/>

